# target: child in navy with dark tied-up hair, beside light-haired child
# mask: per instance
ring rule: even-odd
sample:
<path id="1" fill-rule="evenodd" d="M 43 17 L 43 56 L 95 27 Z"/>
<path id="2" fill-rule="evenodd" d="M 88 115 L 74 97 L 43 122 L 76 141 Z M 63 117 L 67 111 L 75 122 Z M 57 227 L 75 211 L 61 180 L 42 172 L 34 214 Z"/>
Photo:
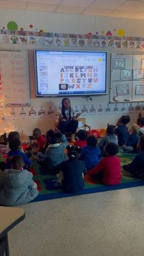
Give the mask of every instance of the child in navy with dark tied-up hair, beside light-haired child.
<path id="1" fill-rule="evenodd" d="M 118 145 L 122 146 L 128 142 L 129 133 L 126 124 L 130 122 L 129 115 L 122 115 L 117 122 L 116 134 L 118 136 Z"/>

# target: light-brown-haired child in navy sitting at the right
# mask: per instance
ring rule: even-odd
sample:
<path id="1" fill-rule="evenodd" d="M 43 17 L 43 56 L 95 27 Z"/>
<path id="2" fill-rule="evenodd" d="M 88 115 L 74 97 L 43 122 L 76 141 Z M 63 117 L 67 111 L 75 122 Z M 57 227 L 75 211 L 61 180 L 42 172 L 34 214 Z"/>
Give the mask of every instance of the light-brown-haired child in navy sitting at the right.
<path id="1" fill-rule="evenodd" d="M 137 153 L 137 144 L 139 142 L 139 126 L 133 123 L 129 128 L 128 142 L 122 146 L 124 152 Z"/>

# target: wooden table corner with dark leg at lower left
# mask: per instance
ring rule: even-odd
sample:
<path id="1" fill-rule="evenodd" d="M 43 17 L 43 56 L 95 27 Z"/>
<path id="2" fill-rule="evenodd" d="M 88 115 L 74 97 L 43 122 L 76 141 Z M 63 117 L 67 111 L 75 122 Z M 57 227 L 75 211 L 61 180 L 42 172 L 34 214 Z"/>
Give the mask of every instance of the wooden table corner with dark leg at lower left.
<path id="1" fill-rule="evenodd" d="M 9 256 L 7 232 L 25 218 L 22 208 L 0 207 L 0 256 Z"/>

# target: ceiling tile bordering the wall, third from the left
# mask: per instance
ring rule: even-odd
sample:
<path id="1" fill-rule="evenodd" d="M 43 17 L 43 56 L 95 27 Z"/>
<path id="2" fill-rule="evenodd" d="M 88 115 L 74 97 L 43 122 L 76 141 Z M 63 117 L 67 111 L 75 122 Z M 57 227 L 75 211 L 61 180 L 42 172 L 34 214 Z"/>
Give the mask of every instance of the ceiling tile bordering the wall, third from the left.
<path id="1" fill-rule="evenodd" d="M 80 14 L 83 12 L 84 9 L 85 9 L 84 7 L 77 7 L 77 6 L 73 7 L 73 6 L 59 5 L 59 7 L 56 9 L 56 12 Z"/>

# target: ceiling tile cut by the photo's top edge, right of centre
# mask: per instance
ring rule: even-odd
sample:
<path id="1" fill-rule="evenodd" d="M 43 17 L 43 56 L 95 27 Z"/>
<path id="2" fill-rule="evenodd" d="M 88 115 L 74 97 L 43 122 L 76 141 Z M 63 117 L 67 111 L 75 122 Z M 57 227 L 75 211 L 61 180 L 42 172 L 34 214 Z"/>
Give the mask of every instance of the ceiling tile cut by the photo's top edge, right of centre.
<path id="1" fill-rule="evenodd" d="M 126 0 L 96 0 L 91 4 L 90 8 L 98 8 L 98 9 L 116 9 L 118 6 L 126 2 Z"/>

